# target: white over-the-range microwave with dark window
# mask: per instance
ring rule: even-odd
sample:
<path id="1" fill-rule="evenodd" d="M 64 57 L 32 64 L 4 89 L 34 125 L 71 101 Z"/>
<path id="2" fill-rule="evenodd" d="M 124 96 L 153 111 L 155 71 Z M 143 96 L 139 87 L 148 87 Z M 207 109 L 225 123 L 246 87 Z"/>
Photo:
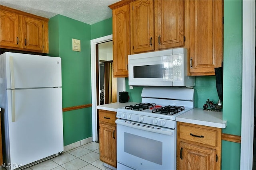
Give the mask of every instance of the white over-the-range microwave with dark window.
<path id="1" fill-rule="evenodd" d="M 128 55 L 130 86 L 195 85 L 194 76 L 187 76 L 187 49 L 175 48 Z"/>

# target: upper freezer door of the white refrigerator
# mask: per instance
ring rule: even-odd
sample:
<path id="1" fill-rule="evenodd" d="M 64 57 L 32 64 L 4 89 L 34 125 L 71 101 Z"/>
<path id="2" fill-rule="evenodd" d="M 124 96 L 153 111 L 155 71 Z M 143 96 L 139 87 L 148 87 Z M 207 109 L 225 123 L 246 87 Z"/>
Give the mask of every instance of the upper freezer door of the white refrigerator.
<path id="1" fill-rule="evenodd" d="M 7 89 L 61 87 L 61 58 L 6 53 Z"/>

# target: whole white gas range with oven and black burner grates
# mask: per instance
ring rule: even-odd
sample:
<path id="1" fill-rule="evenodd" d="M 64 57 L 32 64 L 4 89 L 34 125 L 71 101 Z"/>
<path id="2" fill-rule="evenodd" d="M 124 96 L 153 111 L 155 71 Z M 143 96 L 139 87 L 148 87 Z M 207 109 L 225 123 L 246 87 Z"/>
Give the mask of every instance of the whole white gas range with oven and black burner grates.
<path id="1" fill-rule="evenodd" d="M 145 87 L 141 96 L 117 109 L 117 169 L 176 170 L 176 117 L 194 108 L 194 89 Z"/>

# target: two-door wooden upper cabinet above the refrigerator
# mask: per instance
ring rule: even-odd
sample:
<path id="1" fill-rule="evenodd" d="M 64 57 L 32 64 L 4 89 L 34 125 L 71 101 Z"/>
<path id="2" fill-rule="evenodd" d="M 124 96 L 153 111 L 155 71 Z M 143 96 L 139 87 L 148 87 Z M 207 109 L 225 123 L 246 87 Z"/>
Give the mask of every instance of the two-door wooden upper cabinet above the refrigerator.
<path id="1" fill-rule="evenodd" d="M 48 19 L 1 7 L 0 47 L 19 51 L 49 53 Z"/>

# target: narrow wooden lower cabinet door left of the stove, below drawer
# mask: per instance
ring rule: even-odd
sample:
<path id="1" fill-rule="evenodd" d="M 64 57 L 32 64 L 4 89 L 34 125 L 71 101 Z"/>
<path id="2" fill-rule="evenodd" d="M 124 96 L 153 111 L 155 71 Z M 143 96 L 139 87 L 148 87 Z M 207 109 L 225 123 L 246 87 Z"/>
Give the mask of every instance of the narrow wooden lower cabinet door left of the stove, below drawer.
<path id="1" fill-rule="evenodd" d="M 116 126 L 100 122 L 100 160 L 116 167 Z"/>

